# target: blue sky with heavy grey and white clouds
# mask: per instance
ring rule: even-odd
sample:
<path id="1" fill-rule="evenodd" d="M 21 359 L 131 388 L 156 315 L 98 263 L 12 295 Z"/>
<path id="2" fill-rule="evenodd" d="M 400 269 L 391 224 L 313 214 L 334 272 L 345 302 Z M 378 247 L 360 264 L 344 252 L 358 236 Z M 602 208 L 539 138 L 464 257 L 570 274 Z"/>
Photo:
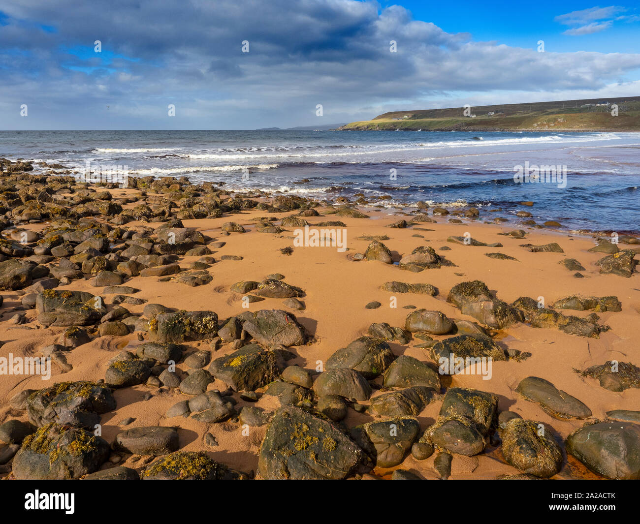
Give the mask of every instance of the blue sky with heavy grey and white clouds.
<path id="1" fill-rule="evenodd" d="M 0 129 L 285 128 L 637 96 L 639 35 L 633 3 L 13 0 Z"/>

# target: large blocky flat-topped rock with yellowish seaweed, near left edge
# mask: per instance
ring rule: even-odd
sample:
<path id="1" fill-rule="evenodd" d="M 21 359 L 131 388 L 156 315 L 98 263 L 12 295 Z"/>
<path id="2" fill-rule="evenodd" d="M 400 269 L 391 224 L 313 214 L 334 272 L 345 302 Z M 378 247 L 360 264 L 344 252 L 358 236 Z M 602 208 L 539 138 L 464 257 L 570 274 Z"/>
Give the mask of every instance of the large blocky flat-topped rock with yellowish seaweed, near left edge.
<path id="1" fill-rule="evenodd" d="M 45 326 L 88 326 L 104 314 L 95 297 L 84 291 L 48 289 L 36 297 L 38 322 Z"/>

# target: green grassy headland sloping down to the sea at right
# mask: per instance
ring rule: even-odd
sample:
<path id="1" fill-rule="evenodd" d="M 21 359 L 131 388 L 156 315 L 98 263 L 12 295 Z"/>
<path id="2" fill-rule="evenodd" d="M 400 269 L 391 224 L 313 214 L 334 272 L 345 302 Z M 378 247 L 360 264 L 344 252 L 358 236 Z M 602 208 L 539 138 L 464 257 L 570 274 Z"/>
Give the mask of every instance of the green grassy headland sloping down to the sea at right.
<path id="1" fill-rule="evenodd" d="M 609 105 L 601 106 L 609 102 Z M 612 116 L 612 105 L 618 116 Z M 393 111 L 373 120 L 351 122 L 340 130 L 396 131 L 640 131 L 640 97 L 561 100 L 533 104 Z"/>

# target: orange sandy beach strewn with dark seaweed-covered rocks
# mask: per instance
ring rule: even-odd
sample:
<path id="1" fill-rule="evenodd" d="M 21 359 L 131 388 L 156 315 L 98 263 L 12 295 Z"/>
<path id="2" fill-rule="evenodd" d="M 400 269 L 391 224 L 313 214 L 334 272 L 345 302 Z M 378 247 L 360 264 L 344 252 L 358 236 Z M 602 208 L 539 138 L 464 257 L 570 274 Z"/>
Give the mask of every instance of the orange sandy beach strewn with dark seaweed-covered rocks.
<path id="1" fill-rule="evenodd" d="M 209 459 L 239 472 L 240 477 L 268 479 L 387 479 L 396 470 L 400 471 L 396 475 L 423 479 L 495 479 L 500 475 L 594 479 L 611 477 L 606 463 L 616 461 L 620 463 L 616 462 L 618 473 L 614 475 L 640 475 L 632 458 L 590 456 L 574 444 L 568 452 L 566 443 L 583 425 L 605 421 L 630 427 L 621 430 L 630 432 L 626 442 L 640 438 L 634 433 L 640 415 L 640 375 L 635 367 L 640 357 L 640 285 L 633 258 L 640 251 L 640 241 L 633 235 L 620 233 L 619 242 L 612 243 L 609 234 L 576 234 L 553 224 L 542 226 L 541 220 L 523 224 L 526 216 L 504 218 L 502 209 L 489 206 L 442 209 L 420 202 L 376 207 L 376 203 L 385 203 L 384 199 L 354 195 L 314 200 L 277 191 L 241 192 L 207 182 L 191 184 L 180 177 L 154 182 L 153 177 L 140 177 L 138 187 L 123 188 L 78 184 L 70 176 L 47 178 L 17 168 L 9 173 L 8 168 L 15 165 L 5 163 L 0 173 L 6 188 L 3 205 L 12 210 L 11 223 L 5 220 L 3 235 L 13 239 L 3 241 L 0 264 L 19 261 L 27 269 L 0 268 L 0 273 L 4 272 L 0 354 L 11 354 L 14 359 L 42 357 L 48 347 L 53 362 L 47 381 L 40 376 L 10 374 L 0 380 L 0 424 L 9 420 L 19 420 L 25 427 L 33 424 L 21 445 L 7 443 L 0 450 L 0 454 L 9 454 L 6 447 L 14 446 L 12 458 L 0 466 L 5 478 L 28 474 L 61 478 L 63 471 L 77 478 L 115 469 L 124 474 L 122 468 L 142 477 L 175 478 L 184 468 L 175 473 L 167 464 L 158 466 L 158 461 L 177 452 L 204 452 Z M 33 200 L 22 202 L 12 191 L 23 200 L 24 195 L 32 195 Z M 530 204 L 517 205 L 515 212 L 536 212 L 536 202 Z M 207 216 L 200 218 L 203 213 Z M 305 225 L 307 231 L 323 230 L 323 237 L 340 230 L 345 249 L 300 245 L 305 244 L 305 238 L 310 243 L 308 235 L 300 236 Z M 52 241 L 56 230 L 60 241 Z M 86 230 L 89 234 L 82 235 Z M 19 242 L 20 232 L 29 232 L 24 236 L 28 237 L 26 242 Z M 553 244 L 560 250 L 535 247 Z M 131 250 L 132 246 L 136 249 Z M 589 251 L 596 246 L 600 246 L 598 250 Z M 416 252 L 416 248 L 420 250 Z M 487 256 L 491 253 L 501 255 Z M 623 264 L 616 253 L 630 262 Z M 154 254 L 157 257 L 152 260 Z M 606 257 L 613 258 L 596 265 Z M 136 258 L 138 264 L 132 262 Z M 583 269 L 563 264 L 570 259 Z M 31 260 L 31 265 L 26 260 Z M 486 288 L 477 283 L 471 292 L 468 286 L 456 288 L 476 281 Z M 116 288 L 105 289 L 109 286 Z M 486 294 L 483 289 L 490 296 L 482 296 Z M 100 297 L 95 308 L 99 314 L 74 316 L 86 305 L 88 296 L 78 293 L 76 309 L 68 310 L 65 298 L 55 295 L 64 292 L 85 292 L 92 300 Z M 248 296 L 258 299 L 249 301 Z M 538 303 L 538 310 L 547 316 L 541 319 L 540 311 L 525 301 L 518 302 L 523 297 Z M 566 300 L 570 297 L 595 300 Z M 154 304 L 164 308 L 151 308 Z M 422 310 L 426 313 L 420 313 Z M 207 319 L 195 315 L 189 317 L 189 323 L 184 312 L 214 312 L 216 316 L 211 321 L 211 315 Z M 267 315 L 262 322 L 259 312 L 280 316 Z M 442 316 L 435 319 L 429 312 L 441 312 Z M 408 319 L 410 315 L 414 315 L 412 319 Z M 565 322 L 566 317 L 572 320 Z M 278 322 L 282 319 L 285 324 L 281 325 Z M 81 322 L 76 323 L 78 320 Z M 371 331 L 372 324 L 380 323 L 400 329 L 378 326 Z M 84 335 L 68 333 L 75 326 Z M 385 339 L 381 333 L 391 336 Z M 350 345 L 360 337 L 369 338 L 360 345 Z M 456 350 L 456 345 L 438 345 L 454 337 L 476 340 L 474 344 L 479 346 L 473 346 L 472 356 L 494 356 L 489 378 L 486 374 L 437 372 L 440 363 L 434 358 L 434 348 L 436 356 L 447 348 Z M 169 351 L 172 358 L 159 356 L 162 351 L 156 347 L 140 351 L 141 345 L 150 342 L 163 345 L 161 349 Z M 52 344 L 62 347 L 51 348 Z M 335 356 L 347 347 L 352 348 L 351 353 L 343 350 Z M 245 364 L 243 359 L 248 357 L 237 352 L 247 348 L 254 353 L 250 353 L 253 360 Z M 194 354 L 204 362 L 200 367 L 186 364 Z M 496 354 L 501 356 L 495 358 Z M 231 360 L 225 361 L 229 355 Z M 392 385 L 388 369 L 401 356 L 430 366 L 439 385 L 426 388 L 424 376 L 419 374 L 422 380 L 413 380 L 411 373 L 403 376 L 397 370 L 401 379 Z M 175 360 L 174 367 L 169 360 Z M 120 369 L 114 364 L 118 361 L 134 361 L 136 372 L 127 366 Z M 617 386 L 580 374 L 611 361 L 633 365 L 625 368 L 625 380 Z M 234 366 L 239 372 L 231 369 Z M 290 369 L 292 366 L 298 369 Z M 172 376 L 164 373 L 169 369 Z M 326 378 L 336 369 L 358 376 L 338 374 L 321 386 L 323 374 Z M 204 381 L 200 377 L 193 390 L 184 381 L 196 371 L 207 377 Z M 122 379 L 120 383 L 113 383 L 115 376 Z M 545 393 L 545 398 L 553 397 L 556 404 L 532 400 L 535 395 L 525 387 L 527 377 L 551 383 L 545 390 L 551 393 Z M 68 399 L 58 399 L 57 407 L 47 410 L 51 395 L 37 402 L 33 396 L 19 395 L 54 383 L 79 381 L 109 385 L 115 408 L 97 409 L 96 402 L 92 408 L 83 404 L 81 411 L 92 415 L 83 418 Z M 75 386 L 65 387 L 73 390 Z M 418 389 L 407 397 L 409 400 L 396 398 L 376 404 L 376 397 L 405 392 L 406 388 Z M 444 402 L 451 404 L 445 397 L 460 390 L 492 393 L 486 412 L 476 406 L 472 414 L 461 414 L 458 408 L 443 413 Z M 344 391 L 364 396 L 354 400 Z M 206 400 L 200 403 L 204 409 L 196 411 L 196 398 Z M 175 408 L 180 402 L 180 408 Z M 478 410 L 486 420 L 480 420 Z M 616 410 L 627 413 L 611 414 Z M 170 417 L 168 412 L 180 415 Z M 280 418 L 296 417 L 310 434 L 300 438 L 292 430 L 294 447 L 278 441 L 278 434 L 269 433 L 274 433 L 270 428 L 280 424 Z M 543 427 L 543 435 L 514 424 L 512 418 L 535 422 L 536 427 Z M 99 436 L 93 433 L 96 420 Z M 399 433 L 375 436 L 375 424 L 380 422 L 399 425 Z M 440 431 L 447 422 L 458 424 L 458 429 Z M 31 435 L 38 425 L 40 433 L 42 427 L 51 431 L 47 424 L 84 427 L 80 431 L 103 439 L 109 449 L 92 455 L 86 461 L 90 467 L 84 470 L 54 468 L 51 464 L 61 460 L 57 456 L 49 457 L 49 470 L 41 464 L 35 466 L 33 454 L 49 451 L 36 449 Z M 330 430 L 323 429 L 324 425 Z M 156 449 L 153 436 L 135 432 L 122 440 L 126 431 L 150 427 L 175 428 L 177 442 L 171 435 L 168 441 L 172 443 L 163 441 L 164 447 Z M 327 437 L 324 445 L 323 441 L 318 444 L 322 436 L 316 430 L 335 431 L 340 436 Z M 535 441 L 532 447 L 536 453 L 520 460 L 511 450 L 506 459 L 501 442 L 507 438 L 505 432 L 512 439 L 515 434 Z M 618 438 L 605 433 L 604 440 Z M 460 448 L 453 441 L 461 443 Z M 357 452 L 339 453 L 351 445 L 357 446 Z M 478 445 L 480 450 L 476 451 Z M 278 455 L 283 450 L 285 459 Z M 291 465 L 291 457 L 306 465 Z M 530 467 L 513 465 L 522 465 L 523 460 Z M 549 460 L 555 464 L 549 467 Z M 323 467 L 314 466 L 318 463 Z M 151 467 L 154 464 L 155 470 Z M 289 466 L 283 470 L 282 464 Z M 541 464 L 545 467 L 538 467 Z M 191 474 L 197 477 L 199 473 Z"/>

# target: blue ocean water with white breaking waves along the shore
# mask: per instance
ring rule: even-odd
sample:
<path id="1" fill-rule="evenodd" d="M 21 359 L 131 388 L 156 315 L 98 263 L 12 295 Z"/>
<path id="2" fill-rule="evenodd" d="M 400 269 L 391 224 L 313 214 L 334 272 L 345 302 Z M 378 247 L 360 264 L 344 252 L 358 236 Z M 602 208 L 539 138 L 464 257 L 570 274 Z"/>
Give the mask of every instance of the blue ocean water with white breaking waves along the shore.
<path id="1" fill-rule="evenodd" d="M 513 219 L 525 209 L 573 230 L 640 232 L 637 132 L 0 131 L 0 157 L 318 199 L 391 195 L 376 202 L 390 208 L 424 200 Z M 566 184 L 514 182 L 526 162 L 566 168 Z"/>

